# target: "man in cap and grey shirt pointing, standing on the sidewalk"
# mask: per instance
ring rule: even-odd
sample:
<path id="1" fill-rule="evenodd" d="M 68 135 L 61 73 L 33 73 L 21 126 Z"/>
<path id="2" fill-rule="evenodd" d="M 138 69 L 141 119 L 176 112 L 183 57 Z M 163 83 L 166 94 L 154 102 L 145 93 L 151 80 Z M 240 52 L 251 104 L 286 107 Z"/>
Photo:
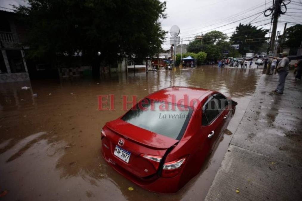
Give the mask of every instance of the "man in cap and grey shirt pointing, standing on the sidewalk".
<path id="1" fill-rule="evenodd" d="M 287 58 L 287 55 L 288 55 L 287 52 L 282 52 L 281 53 L 282 58 L 270 56 L 271 58 L 280 60 L 276 68 L 276 72 L 278 72 L 279 75 L 279 81 L 276 90 L 272 91 L 273 93 L 283 94 L 285 79 L 289 72 L 288 69 L 289 59 Z"/>

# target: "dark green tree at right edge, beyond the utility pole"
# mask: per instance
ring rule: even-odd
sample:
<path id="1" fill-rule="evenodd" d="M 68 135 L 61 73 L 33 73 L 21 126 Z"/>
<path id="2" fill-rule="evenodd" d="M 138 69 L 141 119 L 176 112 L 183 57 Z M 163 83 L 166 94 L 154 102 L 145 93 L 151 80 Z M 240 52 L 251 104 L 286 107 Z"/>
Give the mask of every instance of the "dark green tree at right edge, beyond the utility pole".
<path id="1" fill-rule="evenodd" d="M 296 24 L 292 27 L 288 27 L 284 33 L 284 42 L 282 46 L 297 48 L 300 47 L 301 43 L 302 43 L 302 24 Z"/>

